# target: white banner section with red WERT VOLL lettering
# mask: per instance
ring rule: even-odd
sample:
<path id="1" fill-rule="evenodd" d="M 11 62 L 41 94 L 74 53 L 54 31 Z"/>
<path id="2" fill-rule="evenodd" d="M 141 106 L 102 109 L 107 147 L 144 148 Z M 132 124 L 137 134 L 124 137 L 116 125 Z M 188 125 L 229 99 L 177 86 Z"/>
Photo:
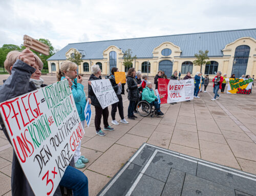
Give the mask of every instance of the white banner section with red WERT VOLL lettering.
<path id="1" fill-rule="evenodd" d="M 194 99 L 194 79 L 169 80 L 167 103 Z"/>

